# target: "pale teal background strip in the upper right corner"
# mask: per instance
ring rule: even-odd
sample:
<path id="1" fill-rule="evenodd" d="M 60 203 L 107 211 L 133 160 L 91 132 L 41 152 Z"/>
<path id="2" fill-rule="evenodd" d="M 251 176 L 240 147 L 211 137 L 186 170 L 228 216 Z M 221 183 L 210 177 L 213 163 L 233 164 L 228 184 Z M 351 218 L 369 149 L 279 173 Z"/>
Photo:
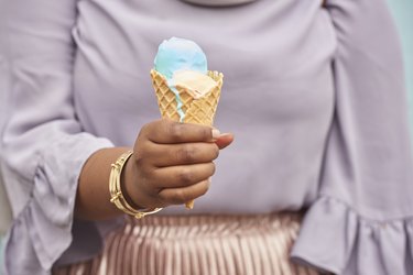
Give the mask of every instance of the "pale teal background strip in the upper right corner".
<path id="1" fill-rule="evenodd" d="M 389 0 L 402 38 L 413 141 L 413 0 Z"/>

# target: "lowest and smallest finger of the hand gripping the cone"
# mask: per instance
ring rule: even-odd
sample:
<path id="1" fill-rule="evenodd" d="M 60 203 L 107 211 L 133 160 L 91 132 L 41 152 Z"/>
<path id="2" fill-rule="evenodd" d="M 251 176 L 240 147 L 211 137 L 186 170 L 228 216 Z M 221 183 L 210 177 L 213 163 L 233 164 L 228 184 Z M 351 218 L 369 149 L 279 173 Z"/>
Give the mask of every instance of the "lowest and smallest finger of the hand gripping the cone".
<path id="1" fill-rule="evenodd" d="M 166 188 L 159 193 L 159 197 L 164 201 L 164 204 L 183 205 L 186 201 L 205 195 L 208 191 L 209 185 L 210 182 L 207 179 L 187 187 Z"/>

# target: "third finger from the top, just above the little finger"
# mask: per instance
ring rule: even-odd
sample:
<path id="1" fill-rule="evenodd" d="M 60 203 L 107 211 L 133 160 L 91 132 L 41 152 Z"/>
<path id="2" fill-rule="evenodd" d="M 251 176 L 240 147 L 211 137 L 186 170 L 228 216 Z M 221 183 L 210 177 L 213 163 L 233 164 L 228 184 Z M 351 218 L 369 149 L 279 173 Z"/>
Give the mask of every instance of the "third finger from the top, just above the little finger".
<path id="1" fill-rule="evenodd" d="M 157 189 L 187 187 L 208 179 L 214 173 L 214 163 L 159 168 L 153 173 L 153 185 Z"/>

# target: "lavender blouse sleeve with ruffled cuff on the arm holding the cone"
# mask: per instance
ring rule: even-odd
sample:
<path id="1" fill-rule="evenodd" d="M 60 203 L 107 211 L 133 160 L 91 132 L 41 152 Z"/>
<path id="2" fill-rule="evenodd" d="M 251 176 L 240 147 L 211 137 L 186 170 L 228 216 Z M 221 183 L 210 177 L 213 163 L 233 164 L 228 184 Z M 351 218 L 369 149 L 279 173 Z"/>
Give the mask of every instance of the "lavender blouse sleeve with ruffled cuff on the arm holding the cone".
<path id="1" fill-rule="evenodd" d="M 6 274 L 50 274 L 64 252 L 81 260 L 100 248 L 95 223 L 73 227 L 83 164 L 93 152 L 112 146 L 83 132 L 74 111 L 76 3 L 0 3 L 0 55 L 10 84 L 1 164 L 14 216 L 6 244 Z M 76 243 L 86 238 L 88 248 L 75 253 Z"/>

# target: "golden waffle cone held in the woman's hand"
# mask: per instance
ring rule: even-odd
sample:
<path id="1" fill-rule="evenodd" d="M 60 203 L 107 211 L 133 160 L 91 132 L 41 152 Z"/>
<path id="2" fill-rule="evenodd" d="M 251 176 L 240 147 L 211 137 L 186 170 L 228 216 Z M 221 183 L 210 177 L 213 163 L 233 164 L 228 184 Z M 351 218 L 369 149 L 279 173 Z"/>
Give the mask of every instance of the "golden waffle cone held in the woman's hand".
<path id="1" fill-rule="evenodd" d="M 211 127 L 214 123 L 215 112 L 217 111 L 221 92 L 224 75 L 218 72 L 208 72 L 208 76 L 217 82 L 217 86 L 200 98 L 197 98 L 196 94 L 189 88 L 176 86 L 183 103 L 182 111 L 185 113 L 185 123 L 195 123 L 209 127 Z M 167 86 L 166 78 L 154 69 L 151 70 L 151 77 L 162 118 L 180 121 L 175 94 Z M 192 209 L 194 207 L 194 201 L 186 202 L 186 207 Z"/>

